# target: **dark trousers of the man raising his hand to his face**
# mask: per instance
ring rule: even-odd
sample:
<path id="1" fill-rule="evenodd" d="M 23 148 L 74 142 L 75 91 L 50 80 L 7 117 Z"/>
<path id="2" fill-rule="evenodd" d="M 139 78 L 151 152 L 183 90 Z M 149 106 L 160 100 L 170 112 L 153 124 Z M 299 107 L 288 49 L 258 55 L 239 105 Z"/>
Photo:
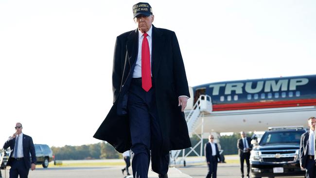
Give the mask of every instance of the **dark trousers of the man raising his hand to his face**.
<path id="1" fill-rule="evenodd" d="M 20 178 L 27 178 L 29 175 L 29 169 L 26 168 L 24 160 L 12 159 L 9 174 L 10 178 L 18 178 L 18 175 L 20 175 Z"/>

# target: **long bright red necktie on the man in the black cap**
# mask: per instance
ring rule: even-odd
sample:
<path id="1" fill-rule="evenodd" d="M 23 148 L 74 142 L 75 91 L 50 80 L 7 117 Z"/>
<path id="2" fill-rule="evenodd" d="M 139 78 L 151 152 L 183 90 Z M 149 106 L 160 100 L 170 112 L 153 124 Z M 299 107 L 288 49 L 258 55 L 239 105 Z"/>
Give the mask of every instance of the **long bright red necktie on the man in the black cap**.
<path id="1" fill-rule="evenodd" d="M 141 45 L 141 87 L 145 91 L 151 88 L 150 54 L 147 40 L 148 34 L 144 33 Z"/>

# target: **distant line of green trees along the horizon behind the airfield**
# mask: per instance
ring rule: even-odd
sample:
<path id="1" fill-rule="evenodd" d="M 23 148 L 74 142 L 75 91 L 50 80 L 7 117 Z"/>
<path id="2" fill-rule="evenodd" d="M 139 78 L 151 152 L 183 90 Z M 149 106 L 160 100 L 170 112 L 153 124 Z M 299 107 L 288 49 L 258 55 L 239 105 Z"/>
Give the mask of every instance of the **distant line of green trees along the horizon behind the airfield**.
<path id="1" fill-rule="evenodd" d="M 231 136 L 221 136 L 219 141 L 221 149 L 224 150 L 224 155 L 234 155 L 238 153 L 237 140 L 240 139 L 239 133 L 234 133 Z M 199 142 L 197 136 L 191 138 L 192 145 Z M 203 140 L 203 152 L 204 144 L 208 142 L 208 139 Z M 113 146 L 106 142 L 99 142 L 95 144 L 70 146 L 65 145 L 63 147 L 52 147 L 55 160 L 91 160 L 91 159 L 121 159 L 122 154 L 117 152 Z M 186 153 L 190 151 L 190 148 L 186 149 Z M 197 153 L 200 153 L 200 145 L 195 148 Z M 204 155 L 204 154 L 203 154 Z M 189 156 L 195 156 L 192 152 Z"/>

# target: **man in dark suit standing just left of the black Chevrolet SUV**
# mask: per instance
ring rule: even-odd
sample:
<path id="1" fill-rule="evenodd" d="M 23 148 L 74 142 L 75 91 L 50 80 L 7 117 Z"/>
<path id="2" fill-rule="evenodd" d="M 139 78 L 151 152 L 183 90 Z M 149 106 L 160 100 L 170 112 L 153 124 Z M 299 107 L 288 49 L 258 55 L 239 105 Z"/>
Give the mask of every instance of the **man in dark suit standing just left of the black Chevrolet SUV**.
<path id="1" fill-rule="evenodd" d="M 247 164 L 247 178 L 249 178 L 250 172 L 250 151 L 252 149 L 251 139 L 246 137 L 246 133 L 244 131 L 240 132 L 241 139 L 237 141 L 238 155 L 240 157 L 240 171 L 242 173 L 242 178 L 244 178 L 244 161 L 246 160 Z"/>

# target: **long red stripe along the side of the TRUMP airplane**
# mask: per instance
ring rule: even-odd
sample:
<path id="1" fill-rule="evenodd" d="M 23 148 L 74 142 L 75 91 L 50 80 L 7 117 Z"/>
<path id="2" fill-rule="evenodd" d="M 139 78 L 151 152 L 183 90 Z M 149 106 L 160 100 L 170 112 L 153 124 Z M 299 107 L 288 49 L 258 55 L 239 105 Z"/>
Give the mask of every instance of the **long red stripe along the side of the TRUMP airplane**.
<path id="1" fill-rule="evenodd" d="M 316 106 L 316 99 L 261 101 L 253 103 L 214 104 L 213 111 Z"/>

